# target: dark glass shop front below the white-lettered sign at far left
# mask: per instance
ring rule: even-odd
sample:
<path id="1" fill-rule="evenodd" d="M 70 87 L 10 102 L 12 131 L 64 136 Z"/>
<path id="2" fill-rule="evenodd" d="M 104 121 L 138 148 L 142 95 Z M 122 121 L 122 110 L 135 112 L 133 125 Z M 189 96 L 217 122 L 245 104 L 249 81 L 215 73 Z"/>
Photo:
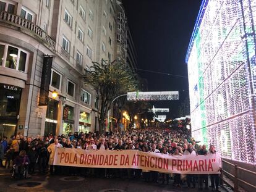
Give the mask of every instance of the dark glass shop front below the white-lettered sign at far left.
<path id="1" fill-rule="evenodd" d="M 0 137 L 17 133 L 22 88 L 0 83 Z"/>

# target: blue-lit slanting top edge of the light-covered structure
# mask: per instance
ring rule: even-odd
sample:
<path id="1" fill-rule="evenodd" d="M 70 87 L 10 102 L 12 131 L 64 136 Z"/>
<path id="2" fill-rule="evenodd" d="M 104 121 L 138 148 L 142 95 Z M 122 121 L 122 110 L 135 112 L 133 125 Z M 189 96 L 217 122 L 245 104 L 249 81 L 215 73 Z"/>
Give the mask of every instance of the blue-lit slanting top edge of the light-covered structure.
<path id="1" fill-rule="evenodd" d="M 205 9 L 207 7 L 208 1 L 209 0 L 202 0 L 202 4 L 200 6 L 200 10 L 199 10 L 198 15 L 197 15 L 197 20 L 195 22 L 194 30 L 192 32 L 192 36 L 191 36 L 190 41 L 189 41 L 189 47 L 187 49 L 186 61 L 185 61 L 186 64 L 189 61 L 189 56 L 190 56 L 190 53 L 191 53 L 193 45 L 194 45 L 195 37 L 197 36 L 198 30 L 200 28 L 200 25 L 201 25 L 201 22 L 202 22 L 202 19 L 203 19 L 203 15 L 205 14 Z"/>

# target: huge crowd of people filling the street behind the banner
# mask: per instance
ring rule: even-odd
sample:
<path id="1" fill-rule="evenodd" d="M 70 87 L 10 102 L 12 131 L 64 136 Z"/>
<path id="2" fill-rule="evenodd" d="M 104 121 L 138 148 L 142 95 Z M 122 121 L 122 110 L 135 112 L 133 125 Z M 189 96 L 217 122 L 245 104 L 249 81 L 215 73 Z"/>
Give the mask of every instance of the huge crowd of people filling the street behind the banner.
<path id="1" fill-rule="evenodd" d="M 134 149 L 143 152 L 159 152 L 170 155 L 207 155 L 216 153 L 215 147 L 207 150 L 205 145 L 198 145 L 191 138 L 187 128 L 147 128 L 142 130 L 127 130 L 121 133 L 75 132 L 69 135 L 29 136 L 18 133 L 16 136 L 0 140 L 0 165 L 12 169 L 12 165 L 27 165 L 28 173 L 36 171 L 51 175 L 84 175 L 85 177 L 108 178 L 141 178 L 145 182 L 157 182 L 168 185 L 174 180 L 177 187 L 186 186 L 199 189 L 208 188 L 208 175 L 182 175 L 177 173 L 158 173 L 139 169 L 100 169 L 67 167 L 53 165 L 56 148 L 76 148 L 82 150 L 126 150 Z M 4 165 L 2 161 L 5 160 Z M 48 165 L 49 164 L 49 165 Z M 16 166 L 18 167 L 18 166 Z M 220 165 L 221 167 L 221 165 Z M 19 170 L 17 170 L 19 171 Z M 210 175 L 212 190 L 218 191 L 219 175 Z"/>

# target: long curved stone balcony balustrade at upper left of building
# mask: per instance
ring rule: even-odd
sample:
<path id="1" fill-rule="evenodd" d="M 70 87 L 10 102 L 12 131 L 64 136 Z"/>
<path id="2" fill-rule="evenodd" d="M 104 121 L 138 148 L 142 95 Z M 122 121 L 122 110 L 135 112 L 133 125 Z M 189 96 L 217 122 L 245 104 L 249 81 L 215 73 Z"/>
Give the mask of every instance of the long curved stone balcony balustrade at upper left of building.
<path id="1" fill-rule="evenodd" d="M 31 31 L 36 36 L 40 37 L 44 43 L 48 44 L 48 46 L 55 50 L 56 42 L 49 35 L 47 35 L 44 30 L 35 25 L 35 23 L 32 23 L 27 19 L 23 19 L 19 15 L 10 14 L 5 11 L 0 11 L 0 22 L 5 22 L 10 25 Z"/>

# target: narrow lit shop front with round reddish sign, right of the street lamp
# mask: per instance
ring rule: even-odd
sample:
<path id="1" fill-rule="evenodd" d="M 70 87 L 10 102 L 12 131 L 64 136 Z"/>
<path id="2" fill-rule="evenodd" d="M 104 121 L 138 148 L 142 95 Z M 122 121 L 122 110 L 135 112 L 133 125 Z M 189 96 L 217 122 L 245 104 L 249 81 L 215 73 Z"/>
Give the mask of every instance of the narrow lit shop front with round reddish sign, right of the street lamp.
<path id="1" fill-rule="evenodd" d="M 63 130 L 64 135 L 69 135 L 70 132 L 74 133 L 74 107 L 66 105 L 63 107 Z"/>

